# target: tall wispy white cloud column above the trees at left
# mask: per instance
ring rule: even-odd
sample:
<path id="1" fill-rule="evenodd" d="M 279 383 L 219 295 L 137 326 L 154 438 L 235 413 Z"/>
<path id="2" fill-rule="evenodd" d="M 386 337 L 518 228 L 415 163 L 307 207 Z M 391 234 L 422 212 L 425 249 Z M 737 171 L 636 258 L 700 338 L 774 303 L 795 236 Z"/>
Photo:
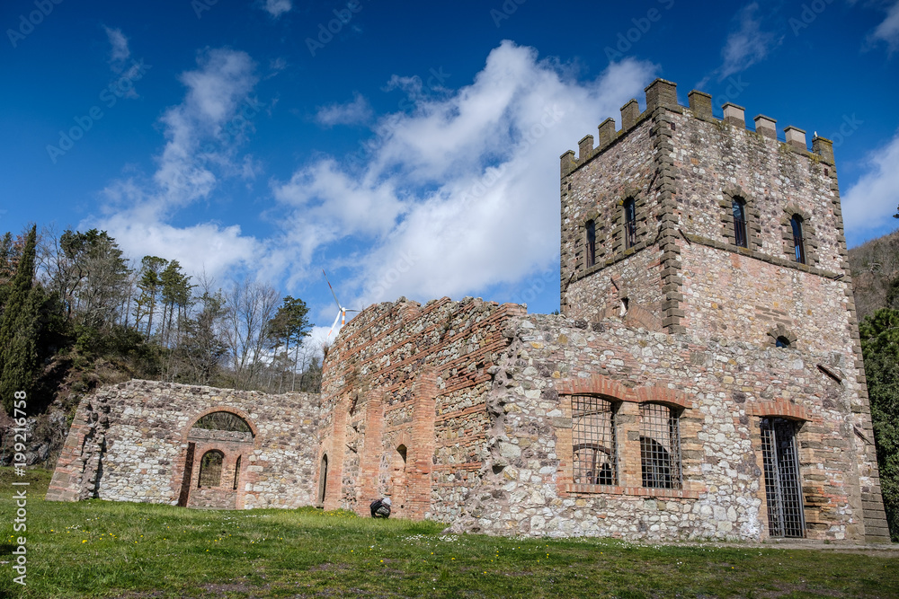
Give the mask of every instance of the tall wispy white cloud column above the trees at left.
<path id="1" fill-rule="evenodd" d="M 176 259 L 192 274 L 205 269 L 221 276 L 251 263 L 266 268 L 260 243 L 242 235 L 238 225 L 171 224 L 179 209 L 210 197 L 217 172 L 245 178 L 258 172 L 252 157 L 237 156 L 245 128 L 251 127 L 247 115 L 252 119 L 251 112 L 259 110 L 251 96 L 257 81 L 253 60 L 219 48 L 200 53 L 197 64 L 181 76 L 183 101 L 160 118 L 165 146 L 156 157 L 156 172 L 111 181 L 102 191 L 102 216 L 85 225 L 109 231 L 133 258 Z"/>

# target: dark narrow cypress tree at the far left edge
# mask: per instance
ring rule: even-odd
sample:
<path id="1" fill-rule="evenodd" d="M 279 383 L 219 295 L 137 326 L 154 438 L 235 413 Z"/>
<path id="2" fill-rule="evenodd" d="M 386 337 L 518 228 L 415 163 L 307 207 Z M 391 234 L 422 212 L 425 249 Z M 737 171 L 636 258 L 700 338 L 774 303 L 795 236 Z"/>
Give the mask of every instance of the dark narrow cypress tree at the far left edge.
<path id="1" fill-rule="evenodd" d="M 12 412 L 13 394 L 31 392 L 38 369 L 40 302 L 33 288 L 37 225 L 31 227 L 0 321 L 0 398 Z"/>

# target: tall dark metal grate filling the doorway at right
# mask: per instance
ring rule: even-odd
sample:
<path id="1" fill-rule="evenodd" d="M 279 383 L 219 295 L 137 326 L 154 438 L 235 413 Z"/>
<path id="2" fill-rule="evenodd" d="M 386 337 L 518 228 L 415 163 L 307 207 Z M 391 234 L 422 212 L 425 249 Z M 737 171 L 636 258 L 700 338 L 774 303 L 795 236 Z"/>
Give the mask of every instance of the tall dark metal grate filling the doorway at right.
<path id="1" fill-rule="evenodd" d="M 783 418 L 761 418 L 761 455 L 772 537 L 804 537 L 805 515 L 799 482 L 796 425 Z"/>

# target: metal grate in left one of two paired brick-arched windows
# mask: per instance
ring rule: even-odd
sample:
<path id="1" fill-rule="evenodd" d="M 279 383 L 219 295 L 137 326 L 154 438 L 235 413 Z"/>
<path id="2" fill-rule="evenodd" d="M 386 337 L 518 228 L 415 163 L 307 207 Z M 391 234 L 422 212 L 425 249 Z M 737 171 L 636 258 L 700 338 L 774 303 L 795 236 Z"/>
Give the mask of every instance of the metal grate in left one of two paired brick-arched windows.
<path id="1" fill-rule="evenodd" d="M 591 395 L 571 398 L 574 482 L 617 485 L 615 410 L 611 401 Z"/>

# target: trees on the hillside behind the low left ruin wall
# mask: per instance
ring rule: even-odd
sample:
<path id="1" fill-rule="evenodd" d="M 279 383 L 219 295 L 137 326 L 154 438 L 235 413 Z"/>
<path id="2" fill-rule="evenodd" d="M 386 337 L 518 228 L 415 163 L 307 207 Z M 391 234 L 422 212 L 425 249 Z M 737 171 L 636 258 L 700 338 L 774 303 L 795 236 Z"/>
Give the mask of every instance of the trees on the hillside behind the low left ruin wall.
<path id="1" fill-rule="evenodd" d="M 52 394 L 60 369 L 101 366 L 120 380 L 317 392 L 307 313 L 303 300 L 248 277 L 219 287 L 178 260 L 132 262 L 105 231 L 5 233 L 0 397 L 9 411 L 15 391 Z"/>

